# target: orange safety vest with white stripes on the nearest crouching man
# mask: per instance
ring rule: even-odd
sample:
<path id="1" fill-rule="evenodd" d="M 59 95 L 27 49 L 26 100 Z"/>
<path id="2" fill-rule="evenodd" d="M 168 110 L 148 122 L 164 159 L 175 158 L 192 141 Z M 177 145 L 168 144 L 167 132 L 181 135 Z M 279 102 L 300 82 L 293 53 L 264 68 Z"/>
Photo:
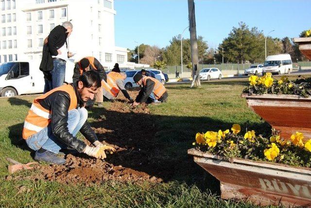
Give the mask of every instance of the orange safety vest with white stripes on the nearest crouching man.
<path id="1" fill-rule="evenodd" d="M 28 114 L 25 118 L 24 128 L 23 128 L 23 138 L 28 139 L 31 135 L 41 131 L 43 128 L 46 128 L 51 123 L 51 109 L 47 110 L 43 108 L 38 100 L 42 100 L 47 96 L 51 95 L 55 91 L 64 91 L 67 92 L 70 96 L 70 106 L 69 110 L 77 108 L 78 101 L 75 90 L 72 85 L 62 85 L 57 87 L 42 96 L 35 98 Z"/>

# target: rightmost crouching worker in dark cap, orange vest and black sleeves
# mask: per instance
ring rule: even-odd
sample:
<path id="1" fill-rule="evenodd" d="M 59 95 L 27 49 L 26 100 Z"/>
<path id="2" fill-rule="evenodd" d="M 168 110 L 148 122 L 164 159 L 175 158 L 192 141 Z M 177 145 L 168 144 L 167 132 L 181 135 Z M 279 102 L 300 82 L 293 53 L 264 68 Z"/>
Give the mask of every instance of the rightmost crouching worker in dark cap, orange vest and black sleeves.
<path id="1" fill-rule="evenodd" d="M 133 80 L 139 86 L 142 86 L 133 106 L 137 106 L 140 103 L 160 104 L 161 102 L 166 102 L 169 95 L 159 80 L 138 73 L 133 77 Z"/>

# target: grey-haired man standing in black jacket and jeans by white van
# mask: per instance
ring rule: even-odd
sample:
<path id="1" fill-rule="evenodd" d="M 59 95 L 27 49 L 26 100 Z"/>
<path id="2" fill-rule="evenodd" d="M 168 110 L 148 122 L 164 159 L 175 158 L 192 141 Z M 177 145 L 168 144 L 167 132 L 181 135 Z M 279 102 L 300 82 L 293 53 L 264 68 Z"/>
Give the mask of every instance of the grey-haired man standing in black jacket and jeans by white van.
<path id="1" fill-rule="evenodd" d="M 72 32 L 71 22 L 56 26 L 49 34 L 43 47 L 40 70 L 44 73 L 44 93 L 63 85 L 66 62 L 72 56 L 68 52 L 66 39 Z"/>

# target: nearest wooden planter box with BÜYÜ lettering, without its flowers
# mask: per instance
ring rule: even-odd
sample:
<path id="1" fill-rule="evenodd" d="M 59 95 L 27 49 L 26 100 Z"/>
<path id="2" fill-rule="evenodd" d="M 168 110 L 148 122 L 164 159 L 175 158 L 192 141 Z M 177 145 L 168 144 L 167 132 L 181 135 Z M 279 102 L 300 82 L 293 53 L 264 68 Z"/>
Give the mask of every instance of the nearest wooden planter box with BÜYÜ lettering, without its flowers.
<path id="1" fill-rule="evenodd" d="M 218 156 L 189 149 L 188 154 L 220 181 L 223 199 L 247 199 L 258 205 L 311 206 L 311 168 Z"/>

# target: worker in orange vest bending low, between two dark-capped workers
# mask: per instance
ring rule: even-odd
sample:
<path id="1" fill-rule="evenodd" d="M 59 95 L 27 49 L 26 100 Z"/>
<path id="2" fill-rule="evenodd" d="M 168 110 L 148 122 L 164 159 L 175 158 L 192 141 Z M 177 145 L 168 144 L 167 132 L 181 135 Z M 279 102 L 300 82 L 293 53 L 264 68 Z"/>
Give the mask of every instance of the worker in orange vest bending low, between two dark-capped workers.
<path id="1" fill-rule="evenodd" d="M 113 101 L 117 98 L 119 92 L 121 91 L 125 98 L 129 101 L 134 101 L 132 97 L 128 94 L 124 87 L 124 80 L 126 79 L 125 72 L 114 72 L 111 71 L 107 74 L 107 81 L 102 80 L 103 95 L 105 100 Z"/>

